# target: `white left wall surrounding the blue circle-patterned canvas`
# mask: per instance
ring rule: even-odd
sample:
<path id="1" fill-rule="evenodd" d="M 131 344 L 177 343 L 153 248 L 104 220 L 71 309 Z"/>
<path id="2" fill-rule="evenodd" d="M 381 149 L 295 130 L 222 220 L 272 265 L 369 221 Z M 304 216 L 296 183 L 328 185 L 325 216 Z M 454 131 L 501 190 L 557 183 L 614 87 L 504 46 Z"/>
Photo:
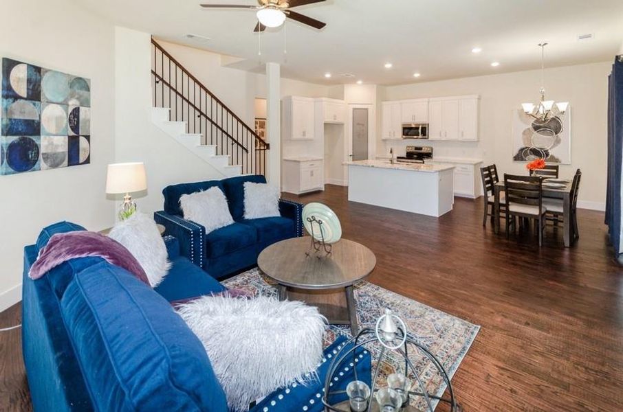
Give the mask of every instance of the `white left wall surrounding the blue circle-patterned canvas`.
<path id="1" fill-rule="evenodd" d="M 106 165 L 114 157 L 114 32 L 70 0 L 2 1 L 0 56 L 91 79 L 91 164 L 0 176 L 0 311 L 21 299 L 23 247 L 59 220 L 113 223 Z"/>

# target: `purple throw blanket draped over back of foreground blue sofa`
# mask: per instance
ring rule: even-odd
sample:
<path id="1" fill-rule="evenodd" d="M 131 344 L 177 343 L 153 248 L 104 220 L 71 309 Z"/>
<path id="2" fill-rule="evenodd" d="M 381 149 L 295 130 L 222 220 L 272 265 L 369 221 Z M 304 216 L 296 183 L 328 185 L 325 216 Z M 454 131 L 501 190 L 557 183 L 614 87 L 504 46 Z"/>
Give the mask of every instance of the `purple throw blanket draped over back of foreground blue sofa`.
<path id="1" fill-rule="evenodd" d="M 75 258 L 103 258 L 120 266 L 151 288 L 147 275 L 132 253 L 116 240 L 91 231 L 56 233 L 39 251 L 39 258 L 30 267 L 30 279 L 39 279 L 56 266 Z"/>

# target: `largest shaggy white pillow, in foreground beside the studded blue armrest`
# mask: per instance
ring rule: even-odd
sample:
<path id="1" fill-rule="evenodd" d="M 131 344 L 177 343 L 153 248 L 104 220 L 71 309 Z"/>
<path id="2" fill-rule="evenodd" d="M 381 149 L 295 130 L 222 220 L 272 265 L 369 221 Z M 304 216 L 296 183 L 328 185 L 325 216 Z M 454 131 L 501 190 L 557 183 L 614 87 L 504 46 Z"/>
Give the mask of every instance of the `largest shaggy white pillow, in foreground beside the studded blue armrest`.
<path id="1" fill-rule="evenodd" d="M 315 377 L 323 358 L 326 319 L 303 302 L 204 296 L 176 309 L 204 344 L 234 411 Z"/>

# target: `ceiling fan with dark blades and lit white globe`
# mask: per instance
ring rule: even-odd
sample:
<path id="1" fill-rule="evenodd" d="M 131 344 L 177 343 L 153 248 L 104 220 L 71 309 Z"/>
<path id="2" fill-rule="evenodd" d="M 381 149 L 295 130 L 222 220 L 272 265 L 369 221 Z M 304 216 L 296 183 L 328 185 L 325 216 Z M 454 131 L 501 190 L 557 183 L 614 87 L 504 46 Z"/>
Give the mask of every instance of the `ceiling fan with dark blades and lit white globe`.
<path id="1" fill-rule="evenodd" d="M 259 5 L 243 5 L 243 4 L 201 4 L 203 8 L 238 8 L 257 10 L 256 15 L 259 22 L 255 26 L 254 32 L 263 32 L 266 27 L 279 27 L 283 24 L 286 17 L 296 20 L 300 23 L 322 29 L 327 25 L 322 21 L 312 19 L 303 14 L 290 10 L 299 5 L 312 3 L 322 3 L 326 0 L 257 0 Z"/>

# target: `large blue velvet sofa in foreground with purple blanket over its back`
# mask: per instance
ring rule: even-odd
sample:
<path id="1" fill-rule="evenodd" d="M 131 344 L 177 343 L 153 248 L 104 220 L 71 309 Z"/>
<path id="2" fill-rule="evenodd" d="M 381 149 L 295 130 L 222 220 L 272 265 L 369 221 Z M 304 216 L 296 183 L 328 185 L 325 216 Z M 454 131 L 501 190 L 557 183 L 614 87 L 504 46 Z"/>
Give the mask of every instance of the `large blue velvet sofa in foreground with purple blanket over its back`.
<path id="1" fill-rule="evenodd" d="M 155 289 L 101 258 L 70 260 L 30 279 L 50 237 L 75 230 L 84 229 L 69 222 L 46 227 L 24 251 L 22 345 L 34 411 L 228 411 L 204 347 L 171 306 L 225 288 L 179 255 L 173 237 L 165 238 L 173 266 Z M 325 350 L 320 382 L 344 341 Z M 369 381 L 369 354 L 362 356 L 358 376 Z M 345 389 L 352 372 L 345 369 L 336 390 Z M 293 384 L 251 411 L 320 412 L 321 391 L 319 382 Z"/>

